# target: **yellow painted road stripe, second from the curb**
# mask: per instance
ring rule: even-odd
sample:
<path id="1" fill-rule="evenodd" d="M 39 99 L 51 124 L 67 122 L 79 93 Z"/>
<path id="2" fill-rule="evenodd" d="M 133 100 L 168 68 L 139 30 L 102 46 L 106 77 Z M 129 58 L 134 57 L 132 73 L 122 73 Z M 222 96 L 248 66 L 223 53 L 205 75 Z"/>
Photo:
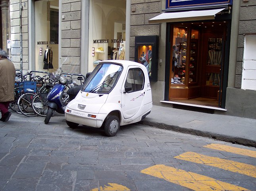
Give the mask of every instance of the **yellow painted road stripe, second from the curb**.
<path id="1" fill-rule="evenodd" d="M 237 172 L 256 178 L 256 166 L 253 165 L 230 161 L 227 159 L 220 159 L 217 157 L 209 157 L 207 155 L 202 155 L 194 152 L 186 152 L 174 158 L 184 161 L 190 161 L 193 163 L 214 166 L 217 168 L 222 168 L 224 170 L 229 170 L 231 172 Z"/>

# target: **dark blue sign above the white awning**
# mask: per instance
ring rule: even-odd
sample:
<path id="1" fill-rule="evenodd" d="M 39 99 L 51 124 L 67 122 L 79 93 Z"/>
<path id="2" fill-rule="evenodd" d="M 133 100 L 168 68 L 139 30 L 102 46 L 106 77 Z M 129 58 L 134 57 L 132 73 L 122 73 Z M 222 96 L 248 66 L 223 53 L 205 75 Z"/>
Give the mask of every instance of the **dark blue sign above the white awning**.
<path id="1" fill-rule="evenodd" d="M 186 6 L 207 6 L 215 4 L 232 4 L 232 0 L 166 0 L 166 9 Z"/>

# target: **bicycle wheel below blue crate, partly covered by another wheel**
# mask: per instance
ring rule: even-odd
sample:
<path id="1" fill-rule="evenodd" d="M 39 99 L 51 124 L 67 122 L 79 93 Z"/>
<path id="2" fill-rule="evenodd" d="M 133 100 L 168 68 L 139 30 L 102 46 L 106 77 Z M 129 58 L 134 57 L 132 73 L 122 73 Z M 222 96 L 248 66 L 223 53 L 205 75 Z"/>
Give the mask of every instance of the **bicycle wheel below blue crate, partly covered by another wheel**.
<path id="1" fill-rule="evenodd" d="M 31 103 L 34 96 L 35 94 L 33 93 L 25 93 L 22 96 L 20 96 L 17 103 L 19 108 L 19 111 L 17 111 L 17 113 L 21 112 L 23 115 L 27 117 L 37 116 L 37 114 L 34 112 L 32 108 L 32 103 Z"/>

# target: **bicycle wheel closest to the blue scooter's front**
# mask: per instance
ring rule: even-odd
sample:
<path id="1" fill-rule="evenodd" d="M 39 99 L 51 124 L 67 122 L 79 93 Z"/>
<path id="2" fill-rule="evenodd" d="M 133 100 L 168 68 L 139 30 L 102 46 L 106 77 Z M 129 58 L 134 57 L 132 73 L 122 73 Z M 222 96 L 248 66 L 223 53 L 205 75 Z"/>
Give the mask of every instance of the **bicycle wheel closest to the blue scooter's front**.
<path id="1" fill-rule="evenodd" d="M 46 96 L 46 100 L 45 100 L 44 97 L 45 97 L 44 95 L 37 94 L 32 99 L 33 111 L 37 115 L 40 115 L 42 117 L 46 117 L 46 113 L 47 113 L 47 110 L 48 110 L 47 96 Z"/>

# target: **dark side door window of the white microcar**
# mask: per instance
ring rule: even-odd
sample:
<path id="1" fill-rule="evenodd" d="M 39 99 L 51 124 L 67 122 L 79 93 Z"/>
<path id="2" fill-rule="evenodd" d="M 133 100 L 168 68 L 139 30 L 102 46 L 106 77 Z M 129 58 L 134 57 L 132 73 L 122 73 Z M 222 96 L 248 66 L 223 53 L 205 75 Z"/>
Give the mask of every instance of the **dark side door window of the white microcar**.
<path id="1" fill-rule="evenodd" d="M 127 93 L 140 91 L 144 87 L 144 74 L 140 68 L 131 68 L 125 80 L 125 87 L 131 87 Z"/>

